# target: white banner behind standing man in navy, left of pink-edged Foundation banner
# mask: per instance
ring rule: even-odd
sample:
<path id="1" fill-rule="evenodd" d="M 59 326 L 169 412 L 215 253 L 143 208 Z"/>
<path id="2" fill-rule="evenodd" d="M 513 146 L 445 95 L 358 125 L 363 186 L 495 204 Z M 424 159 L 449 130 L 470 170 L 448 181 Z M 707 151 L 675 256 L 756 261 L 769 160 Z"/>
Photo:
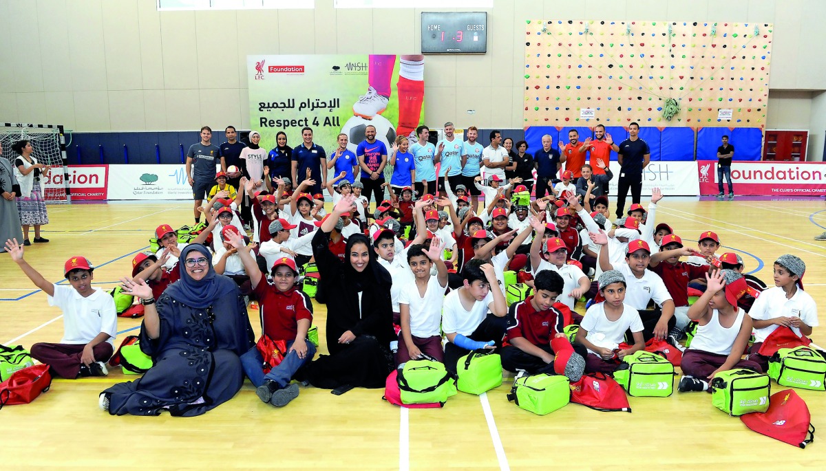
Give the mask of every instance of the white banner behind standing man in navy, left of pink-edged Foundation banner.
<path id="1" fill-rule="evenodd" d="M 611 161 L 611 172 L 614 178 L 608 184 L 610 195 L 617 194 L 619 181 L 619 162 Z M 697 162 L 650 162 L 643 171 L 643 191 L 645 196 L 651 195 L 652 188 L 659 188 L 666 196 L 696 196 L 700 194 L 700 184 L 697 181 Z M 629 198 L 630 198 L 629 191 Z"/>

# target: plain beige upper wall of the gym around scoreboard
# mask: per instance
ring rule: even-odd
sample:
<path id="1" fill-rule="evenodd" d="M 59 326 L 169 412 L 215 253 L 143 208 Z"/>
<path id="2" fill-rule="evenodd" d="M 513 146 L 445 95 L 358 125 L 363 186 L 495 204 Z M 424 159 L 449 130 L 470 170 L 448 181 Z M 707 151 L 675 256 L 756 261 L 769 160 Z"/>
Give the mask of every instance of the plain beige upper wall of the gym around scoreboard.
<path id="1" fill-rule="evenodd" d="M 487 54 L 427 57 L 429 122 L 521 127 L 525 20 L 540 17 L 773 22 L 770 87 L 826 90 L 826 55 L 812 54 L 826 44 L 823 0 L 496 0 L 488 12 Z M 216 12 L 158 12 L 154 0 L 0 0 L 0 121 L 246 128 L 247 54 L 415 53 L 419 17 L 412 8 L 336 10 L 333 0 Z M 806 101 L 770 98 L 771 127 L 796 125 L 811 111 L 796 112 Z"/>

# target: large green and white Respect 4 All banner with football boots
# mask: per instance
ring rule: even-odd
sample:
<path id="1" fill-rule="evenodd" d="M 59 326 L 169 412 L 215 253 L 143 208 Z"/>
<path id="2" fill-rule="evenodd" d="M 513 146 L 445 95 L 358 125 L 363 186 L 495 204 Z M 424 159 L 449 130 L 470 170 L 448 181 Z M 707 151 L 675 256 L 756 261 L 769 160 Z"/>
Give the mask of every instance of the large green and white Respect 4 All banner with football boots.
<path id="1" fill-rule="evenodd" d="M 263 148 L 275 147 L 278 131 L 296 148 L 311 127 L 328 156 L 339 133 L 355 152 L 373 125 L 389 150 L 424 122 L 424 69 L 422 55 L 248 55 L 249 125 Z"/>

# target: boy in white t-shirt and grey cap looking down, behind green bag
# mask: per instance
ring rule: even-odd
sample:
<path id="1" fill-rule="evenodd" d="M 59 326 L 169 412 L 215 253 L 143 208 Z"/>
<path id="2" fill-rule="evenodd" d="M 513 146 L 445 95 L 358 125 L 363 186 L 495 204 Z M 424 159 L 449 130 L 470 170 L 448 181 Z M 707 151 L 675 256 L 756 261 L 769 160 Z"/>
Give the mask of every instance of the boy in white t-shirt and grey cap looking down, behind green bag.
<path id="1" fill-rule="evenodd" d="M 579 325 L 576 341 L 588 349 L 585 359 L 587 373 L 613 373 L 620 360 L 645 347 L 643 321 L 637 309 L 624 304 L 626 283 L 622 273 L 603 271 L 599 287 L 605 301 L 588 308 Z M 634 335 L 634 345 L 619 350 L 619 343 L 624 341 L 625 331 L 629 329 Z"/>

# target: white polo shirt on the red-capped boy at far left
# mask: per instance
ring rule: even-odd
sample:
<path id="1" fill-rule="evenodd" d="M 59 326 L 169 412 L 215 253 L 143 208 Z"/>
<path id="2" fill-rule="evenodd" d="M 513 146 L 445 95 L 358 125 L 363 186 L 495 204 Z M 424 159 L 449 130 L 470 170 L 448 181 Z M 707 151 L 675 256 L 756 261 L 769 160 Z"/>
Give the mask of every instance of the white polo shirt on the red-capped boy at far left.
<path id="1" fill-rule="evenodd" d="M 115 345 L 117 311 L 115 299 L 106 291 L 95 288 L 93 294 L 84 298 L 71 286 L 55 285 L 55 295 L 46 299 L 50 306 L 63 311 L 64 332 L 60 343 L 86 345 L 101 332 L 106 332 L 109 334 L 107 342 Z"/>

